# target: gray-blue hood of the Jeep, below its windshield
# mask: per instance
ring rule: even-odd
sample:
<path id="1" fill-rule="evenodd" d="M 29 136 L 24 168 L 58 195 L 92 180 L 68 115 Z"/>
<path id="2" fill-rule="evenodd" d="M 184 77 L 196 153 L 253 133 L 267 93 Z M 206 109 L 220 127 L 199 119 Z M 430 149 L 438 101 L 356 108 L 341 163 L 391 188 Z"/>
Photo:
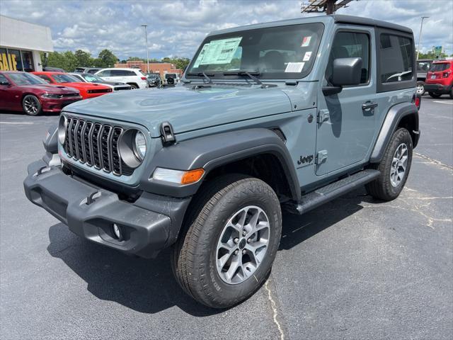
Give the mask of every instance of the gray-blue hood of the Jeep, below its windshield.
<path id="1" fill-rule="evenodd" d="M 143 125 L 151 137 L 168 121 L 176 134 L 291 111 L 278 87 L 212 86 L 120 91 L 73 103 L 64 111 Z"/>

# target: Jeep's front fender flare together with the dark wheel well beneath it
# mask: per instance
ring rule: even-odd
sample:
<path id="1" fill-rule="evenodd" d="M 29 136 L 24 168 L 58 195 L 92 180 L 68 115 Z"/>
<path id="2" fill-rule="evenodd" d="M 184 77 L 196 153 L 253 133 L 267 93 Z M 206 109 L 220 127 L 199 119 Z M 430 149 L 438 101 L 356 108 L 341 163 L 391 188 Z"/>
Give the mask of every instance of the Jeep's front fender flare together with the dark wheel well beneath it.
<path id="1" fill-rule="evenodd" d="M 156 181 L 156 167 L 165 169 L 205 169 L 202 181 L 186 186 Z M 281 200 L 299 200 L 300 186 L 285 143 L 266 128 L 224 132 L 186 140 L 163 147 L 147 164 L 140 187 L 144 191 L 173 197 L 193 196 L 203 181 L 214 176 L 236 173 L 262 179 Z"/>

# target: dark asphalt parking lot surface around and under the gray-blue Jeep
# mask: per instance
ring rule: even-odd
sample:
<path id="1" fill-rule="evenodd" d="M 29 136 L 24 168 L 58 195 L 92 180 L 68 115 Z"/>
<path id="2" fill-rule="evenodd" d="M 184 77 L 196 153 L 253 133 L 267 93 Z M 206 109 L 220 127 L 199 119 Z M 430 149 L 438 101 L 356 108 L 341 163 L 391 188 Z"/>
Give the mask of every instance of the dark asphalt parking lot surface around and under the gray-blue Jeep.
<path id="1" fill-rule="evenodd" d="M 186 296 L 168 251 L 86 242 L 28 202 L 27 164 L 56 115 L 0 114 L 1 339 L 452 339 L 453 101 L 424 96 L 400 198 L 360 189 L 284 215 L 268 282 L 230 310 Z"/>

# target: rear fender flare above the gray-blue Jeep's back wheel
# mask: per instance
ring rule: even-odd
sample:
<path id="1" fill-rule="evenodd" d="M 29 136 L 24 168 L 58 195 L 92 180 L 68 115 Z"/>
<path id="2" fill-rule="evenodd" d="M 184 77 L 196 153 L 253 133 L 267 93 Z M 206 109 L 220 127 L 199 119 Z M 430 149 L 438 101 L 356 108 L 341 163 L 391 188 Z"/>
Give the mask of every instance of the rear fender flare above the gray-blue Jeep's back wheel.
<path id="1" fill-rule="evenodd" d="M 413 131 L 409 131 L 413 138 L 413 147 L 417 146 L 418 137 L 420 132 L 418 130 L 418 108 L 414 103 L 399 103 L 392 106 L 387 112 L 386 117 L 384 118 L 384 123 L 382 123 L 381 130 L 377 136 L 377 140 L 374 143 L 374 148 L 369 157 L 370 163 L 379 163 L 384 157 L 384 152 L 387 148 L 387 145 L 390 142 L 391 135 L 394 134 L 398 124 L 401 122 L 401 119 L 408 115 L 414 115 L 415 118 L 415 127 Z"/>

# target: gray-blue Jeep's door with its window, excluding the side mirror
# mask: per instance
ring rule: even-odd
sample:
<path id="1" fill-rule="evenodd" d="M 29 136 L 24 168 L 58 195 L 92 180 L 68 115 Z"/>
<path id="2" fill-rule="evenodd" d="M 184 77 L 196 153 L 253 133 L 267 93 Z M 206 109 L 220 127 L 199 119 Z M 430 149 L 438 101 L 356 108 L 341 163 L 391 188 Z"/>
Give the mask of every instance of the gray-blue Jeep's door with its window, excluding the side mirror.
<path id="1" fill-rule="evenodd" d="M 357 26 L 336 31 L 323 84 L 329 84 L 333 60 L 362 58 L 359 85 L 343 86 L 339 94 L 319 93 L 319 117 L 316 135 L 316 175 L 346 169 L 365 159 L 374 137 L 374 121 L 379 107 L 364 110 L 376 96 L 375 58 L 372 57 L 374 29 Z"/>

